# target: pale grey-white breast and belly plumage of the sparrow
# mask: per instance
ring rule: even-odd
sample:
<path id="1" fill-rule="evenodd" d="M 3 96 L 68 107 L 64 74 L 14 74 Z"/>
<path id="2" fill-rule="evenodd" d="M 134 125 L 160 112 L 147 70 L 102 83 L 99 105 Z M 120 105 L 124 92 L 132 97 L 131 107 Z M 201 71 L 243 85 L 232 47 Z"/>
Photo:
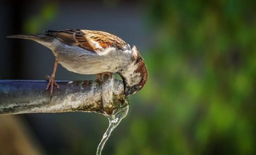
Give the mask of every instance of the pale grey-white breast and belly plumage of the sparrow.
<path id="1" fill-rule="evenodd" d="M 132 62 L 132 51 L 110 47 L 101 52 L 91 52 L 78 46 L 53 41 L 53 53 L 67 70 L 79 74 L 118 72 Z"/>

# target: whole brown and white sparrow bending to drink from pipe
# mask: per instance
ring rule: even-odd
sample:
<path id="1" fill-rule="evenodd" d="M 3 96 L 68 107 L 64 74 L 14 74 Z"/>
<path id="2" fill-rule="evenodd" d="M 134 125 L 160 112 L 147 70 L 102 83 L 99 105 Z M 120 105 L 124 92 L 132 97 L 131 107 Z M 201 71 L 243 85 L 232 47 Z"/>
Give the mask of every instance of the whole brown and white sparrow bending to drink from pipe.
<path id="1" fill-rule="evenodd" d="M 17 34 L 7 38 L 30 39 L 52 50 L 55 56 L 52 76 L 46 90 L 53 96 L 55 73 L 58 63 L 68 71 L 79 74 L 97 74 L 102 81 L 103 74 L 117 73 L 124 83 L 126 96 L 138 92 L 148 81 L 145 61 L 136 46 L 130 45 L 116 35 L 86 29 L 45 31 L 43 34 Z"/>

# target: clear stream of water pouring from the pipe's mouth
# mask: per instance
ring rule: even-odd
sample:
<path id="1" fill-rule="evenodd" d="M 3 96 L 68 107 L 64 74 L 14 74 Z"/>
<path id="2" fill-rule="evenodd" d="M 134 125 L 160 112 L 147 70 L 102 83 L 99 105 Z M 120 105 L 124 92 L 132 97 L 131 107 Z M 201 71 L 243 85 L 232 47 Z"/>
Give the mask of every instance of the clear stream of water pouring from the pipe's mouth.
<path id="1" fill-rule="evenodd" d="M 104 133 L 100 144 L 98 145 L 96 155 L 101 155 L 101 151 L 102 151 L 105 143 L 107 142 L 108 138 L 110 137 L 111 132 L 118 126 L 118 124 L 121 122 L 121 120 L 124 117 L 126 117 L 126 115 L 128 113 L 128 110 L 129 110 L 129 105 L 126 105 L 124 107 L 120 107 L 119 109 L 117 109 L 114 112 L 113 115 L 108 117 L 109 126 L 108 126 L 106 132 Z"/>

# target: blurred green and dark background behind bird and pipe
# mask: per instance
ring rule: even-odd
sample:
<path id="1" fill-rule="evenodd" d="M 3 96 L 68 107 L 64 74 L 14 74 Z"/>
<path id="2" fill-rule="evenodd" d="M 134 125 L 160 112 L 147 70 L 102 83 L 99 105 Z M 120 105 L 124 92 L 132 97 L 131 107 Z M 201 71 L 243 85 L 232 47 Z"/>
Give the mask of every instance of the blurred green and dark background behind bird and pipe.
<path id="1" fill-rule="evenodd" d="M 256 154 L 255 1 L 4 0 L 0 79 L 43 79 L 54 63 L 44 46 L 6 35 L 68 28 L 116 34 L 148 67 L 104 155 Z M 0 116 L 0 155 L 92 155 L 107 126 L 98 114 Z"/>

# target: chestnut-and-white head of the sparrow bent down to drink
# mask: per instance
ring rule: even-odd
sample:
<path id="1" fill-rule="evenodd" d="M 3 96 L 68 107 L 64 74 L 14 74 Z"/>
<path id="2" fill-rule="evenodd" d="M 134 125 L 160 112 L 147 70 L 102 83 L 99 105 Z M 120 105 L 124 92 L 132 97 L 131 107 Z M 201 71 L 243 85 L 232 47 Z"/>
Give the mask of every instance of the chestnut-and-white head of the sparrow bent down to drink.
<path id="1" fill-rule="evenodd" d="M 137 93 L 148 81 L 148 71 L 145 61 L 140 56 L 136 46 L 133 46 L 132 52 L 132 63 L 125 70 L 119 72 L 124 82 L 124 93 L 126 96 Z"/>

